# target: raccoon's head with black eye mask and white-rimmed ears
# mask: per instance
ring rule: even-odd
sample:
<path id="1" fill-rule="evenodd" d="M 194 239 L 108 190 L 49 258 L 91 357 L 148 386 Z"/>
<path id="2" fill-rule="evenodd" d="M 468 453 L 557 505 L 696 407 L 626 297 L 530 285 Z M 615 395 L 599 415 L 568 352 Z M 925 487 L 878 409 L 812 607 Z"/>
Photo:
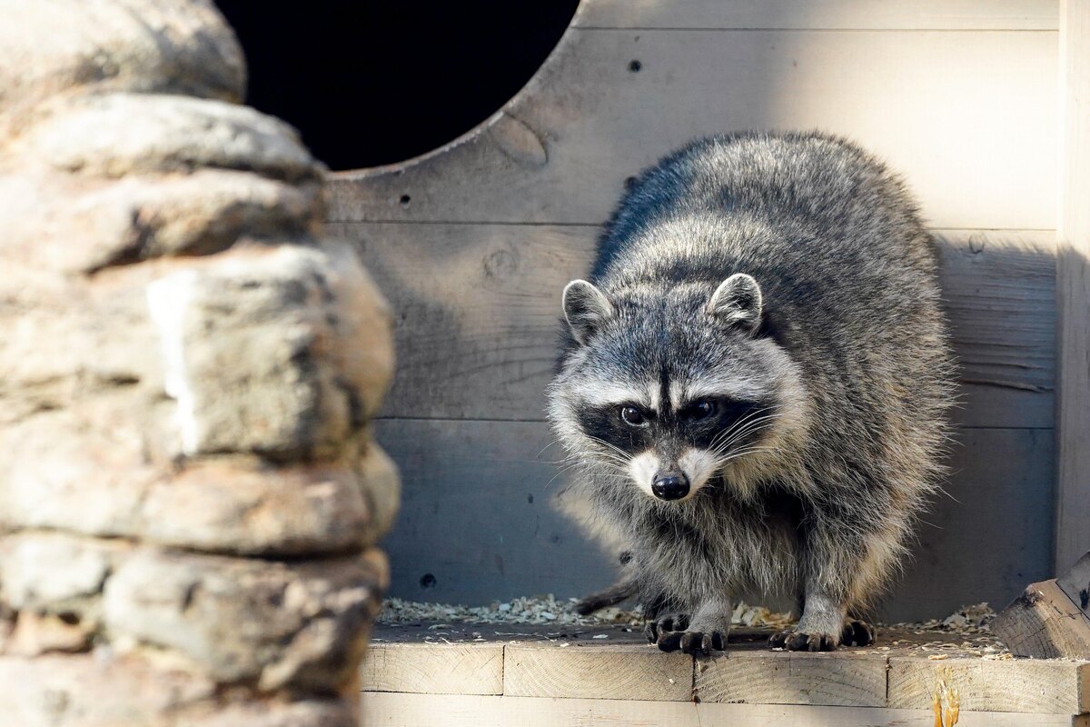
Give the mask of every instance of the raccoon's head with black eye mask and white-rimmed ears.
<path id="1" fill-rule="evenodd" d="M 556 429 L 647 495 L 686 500 L 720 475 L 744 488 L 797 424 L 798 371 L 758 334 L 752 277 L 613 296 L 576 280 L 564 301 L 576 347 L 550 391 Z"/>

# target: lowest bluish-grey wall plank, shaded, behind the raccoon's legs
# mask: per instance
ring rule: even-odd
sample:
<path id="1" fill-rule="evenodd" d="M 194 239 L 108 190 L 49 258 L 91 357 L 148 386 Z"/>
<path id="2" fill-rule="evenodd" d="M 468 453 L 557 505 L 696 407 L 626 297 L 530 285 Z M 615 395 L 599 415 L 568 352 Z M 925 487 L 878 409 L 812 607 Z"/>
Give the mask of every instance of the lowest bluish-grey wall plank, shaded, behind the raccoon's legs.
<path id="1" fill-rule="evenodd" d="M 611 582 L 616 554 L 601 554 L 550 504 L 570 475 L 550 463 L 559 453 L 546 424 L 386 420 L 376 436 L 402 477 L 401 514 L 384 543 L 392 595 L 480 604 L 582 596 Z M 888 621 L 1002 606 L 1050 575 L 1051 432 L 966 429 L 950 465 L 948 496 L 924 516 L 884 601 Z M 425 574 L 434 587 L 421 586 Z"/>

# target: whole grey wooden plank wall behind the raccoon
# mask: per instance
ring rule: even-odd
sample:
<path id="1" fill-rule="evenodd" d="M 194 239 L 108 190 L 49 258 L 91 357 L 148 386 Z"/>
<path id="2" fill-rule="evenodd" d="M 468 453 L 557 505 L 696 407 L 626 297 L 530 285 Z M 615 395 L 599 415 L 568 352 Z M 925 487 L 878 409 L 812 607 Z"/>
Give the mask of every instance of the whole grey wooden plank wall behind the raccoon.
<path id="1" fill-rule="evenodd" d="M 404 482 L 392 593 L 486 603 L 610 578 L 549 505 L 559 293 L 585 275 L 626 178 L 737 129 L 856 140 L 907 178 L 941 238 L 961 361 L 955 474 L 885 615 L 1002 607 L 1050 575 L 1056 28 L 1043 1 L 584 0 L 481 128 L 335 174 L 330 232 L 354 241 L 399 320 L 377 426 Z"/>

